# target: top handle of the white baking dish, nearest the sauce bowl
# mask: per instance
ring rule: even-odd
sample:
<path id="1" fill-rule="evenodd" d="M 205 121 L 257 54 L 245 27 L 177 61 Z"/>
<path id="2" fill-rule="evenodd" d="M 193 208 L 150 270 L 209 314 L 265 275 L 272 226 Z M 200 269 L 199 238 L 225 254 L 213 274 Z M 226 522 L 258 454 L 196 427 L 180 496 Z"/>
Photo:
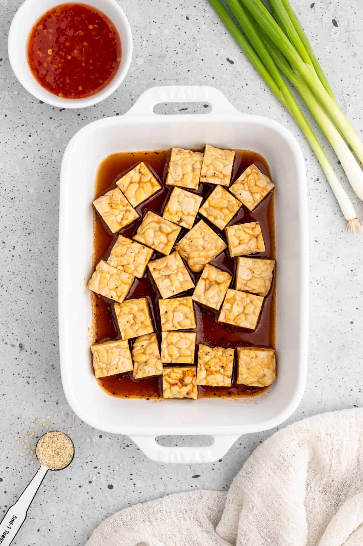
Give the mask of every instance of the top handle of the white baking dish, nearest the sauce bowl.
<path id="1" fill-rule="evenodd" d="M 207 85 L 170 85 L 151 87 L 144 91 L 135 104 L 126 112 L 127 115 L 152 115 L 153 108 L 159 103 L 188 103 L 203 102 L 211 105 L 207 114 L 224 114 L 225 112 L 239 112 L 221 91 Z M 193 115 L 193 114 L 191 114 Z"/>

